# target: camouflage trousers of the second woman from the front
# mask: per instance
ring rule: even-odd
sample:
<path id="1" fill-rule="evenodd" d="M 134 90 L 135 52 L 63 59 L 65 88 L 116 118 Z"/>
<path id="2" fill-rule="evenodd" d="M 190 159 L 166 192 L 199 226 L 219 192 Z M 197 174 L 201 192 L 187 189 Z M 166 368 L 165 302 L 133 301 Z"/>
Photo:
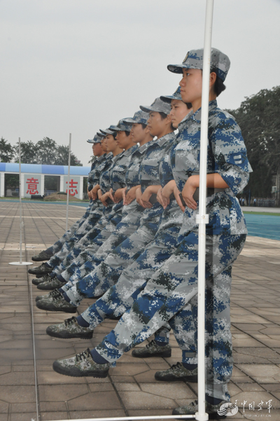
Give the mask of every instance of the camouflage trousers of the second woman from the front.
<path id="1" fill-rule="evenodd" d="M 137 260 L 123 271 L 116 285 L 112 286 L 102 298 L 82 313 L 82 317 L 90 324 L 92 329 L 97 327 L 106 317 L 111 315 L 119 317 L 130 309 L 147 281 L 176 251 L 178 247 L 177 238 L 182 222 L 183 213 L 176 201 L 173 201 L 162 215 L 160 228 L 154 241 L 151 241 Z M 88 290 L 87 294 L 91 296 L 91 292 Z M 67 295 L 72 298 L 71 302 L 74 304 L 75 295 L 72 290 L 68 291 Z M 192 300 L 193 305 L 195 305 L 196 298 Z M 75 304 L 78 304 L 77 301 Z M 183 362 L 194 364 L 196 362 L 195 327 L 190 304 L 181 311 L 180 317 L 172 317 L 169 324 L 182 350 Z M 155 332 L 156 340 L 168 343 L 169 330 L 169 325 L 165 324 L 164 327 Z M 190 358 L 192 358 L 191 361 Z"/>

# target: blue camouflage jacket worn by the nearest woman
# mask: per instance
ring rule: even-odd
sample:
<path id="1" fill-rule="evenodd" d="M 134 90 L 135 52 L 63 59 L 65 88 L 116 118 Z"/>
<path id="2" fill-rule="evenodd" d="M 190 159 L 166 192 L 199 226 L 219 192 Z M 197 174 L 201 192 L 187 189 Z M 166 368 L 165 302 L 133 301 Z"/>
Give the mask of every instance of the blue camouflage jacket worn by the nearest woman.
<path id="1" fill-rule="evenodd" d="M 200 173 L 201 109 L 189 115 L 177 135 L 178 144 L 170 152 L 170 162 L 180 191 L 188 177 Z M 228 188 L 207 197 L 207 234 L 246 234 L 246 222 L 235 197 L 248 183 L 251 165 L 241 130 L 234 117 L 209 103 L 207 173 L 219 173 Z M 198 213 L 186 207 L 181 234 L 197 227 Z"/>

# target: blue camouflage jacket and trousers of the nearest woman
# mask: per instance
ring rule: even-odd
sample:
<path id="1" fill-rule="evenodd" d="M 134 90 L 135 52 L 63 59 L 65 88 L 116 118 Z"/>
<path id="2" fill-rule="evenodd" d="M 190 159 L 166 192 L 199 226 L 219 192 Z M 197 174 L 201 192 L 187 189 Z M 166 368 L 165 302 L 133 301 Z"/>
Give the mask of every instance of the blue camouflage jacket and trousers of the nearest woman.
<path id="1" fill-rule="evenodd" d="M 171 155 L 179 190 L 189 176 L 199 173 L 200 111 L 186 121 Z M 229 188 L 207 197 L 207 393 L 225 400 L 229 399 L 227 383 L 232 372 L 230 272 L 247 233 L 235 195 L 248 183 L 250 171 L 237 123 L 211 101 L 207 172 L 221 174 Z M 130 312 L 97 346 L 97 352 L 109 362 L 116 362 L 123 352 L 151 336 L 197 294 L 197 213 L 198 209 L 186 208 L 176 252 L 148 281 Z M 193 315 L 196 321 L 196 306 Z"/>

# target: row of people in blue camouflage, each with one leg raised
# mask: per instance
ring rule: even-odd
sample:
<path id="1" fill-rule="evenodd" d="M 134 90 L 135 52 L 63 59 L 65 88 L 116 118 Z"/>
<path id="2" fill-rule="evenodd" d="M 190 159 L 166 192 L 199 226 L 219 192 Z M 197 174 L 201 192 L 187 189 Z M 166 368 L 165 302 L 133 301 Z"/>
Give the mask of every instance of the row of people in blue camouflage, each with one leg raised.
<path id="1" fill-rule="evenodd" d="M 129 147 L 111 158 L 111 166 L 101 173 L 99 184 L 92 187 L 92 204 L 82 220 L 55 245 L 59 250 L 53 250 L 56 253 L 47 263 L 31 269 L 37 276 L 45 273 L 43 278 L 34 280 L 39 289 L 56 288 L 47 296 L 37 297 L 38 308 L 76 313 L 85 297 L 103 294 L 78 317 L 48 327 L 50 336 L 90 337 L 105 317 L 122 316 L 96 348 L 57 360 L 53 367 L 59 373 L 106 377 L 109 367 L 116 365 L 124 352 L 153 334 L 155 340 L 146 348 L 137 348 L 132 355 L 168 356 L 172 328 L 182 350 L 182 363 L 158 372 L 156 378 L 197 380 L 196 215 L 202 57 L 203 50 L 191 50 L 182 64 L 168 66 L 169 71 L 183 75 L 181 89 L 173 96 L 160 97 L 151 106 L 141 107 L 132 119 L 120 120 L 117 127 L 103 131 L 108 144 L 108 136 L 116 132 L 117 142 L 125 133 L 135 143 L 141 129 L 147 131 L 150 139 L 147 137 L 139 148 L 128 142 Z M 205 348 L 209 413 L 216 413 L 223 402 L 230 400 L 227 385 L 232 372 L 231 269 L 247 232 L 236 194 L 244 189 L 251 171 L 237 123 L 216 103 L 216 97 L 225 89 L 223 82 L 229 68 L 228 57 L 212 49 Z M 192 104 L 191 112 L 187 104 Z M 140 122 L 140 118 L 144 120 Z M 127 127 L 132 127 L 130 133 Z M 178 127 L 177 134 L 174 127 Z M 108 155 L 101 159 L 109 160 Z M 131 171 L 132 175 L 131 168 L 134 176 L 128 175 L 125 180 L 123 173 Z M 105 187 L 106 177 L 110 182 Z M 176 408 L 174 413 L 195 411 L 197 402 Z"/>

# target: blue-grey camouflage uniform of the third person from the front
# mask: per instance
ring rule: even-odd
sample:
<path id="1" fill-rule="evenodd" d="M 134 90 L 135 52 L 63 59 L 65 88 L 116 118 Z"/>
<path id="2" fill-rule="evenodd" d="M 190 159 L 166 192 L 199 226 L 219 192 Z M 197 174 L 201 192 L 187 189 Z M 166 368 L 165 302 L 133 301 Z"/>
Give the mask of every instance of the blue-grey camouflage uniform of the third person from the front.
<path id="1" fill-rule="evenodd" d="M 174 142 L 173 133 L 148 143 L 146 154 L 141 162 L 139 180 L 141 190 L 144 192 L 149 185 L 157 185 L 159 180 L 160 159 L 166 155 L 166 150 Z M 160 224 L 163 208 L 158 203 L 153 208 L 146 208 L 139 220 L 139 228 L 123 243 L 120 243 L 111 252 L 104 262 L 99 264 L 92 273 L 79 280 L 76 285 L 67 292 L 71 301 L 78 303 L 83 297 L 94 297 L 109 289 L 118 280 L 120 273 L 136 259 L 153 241 Z"/>

